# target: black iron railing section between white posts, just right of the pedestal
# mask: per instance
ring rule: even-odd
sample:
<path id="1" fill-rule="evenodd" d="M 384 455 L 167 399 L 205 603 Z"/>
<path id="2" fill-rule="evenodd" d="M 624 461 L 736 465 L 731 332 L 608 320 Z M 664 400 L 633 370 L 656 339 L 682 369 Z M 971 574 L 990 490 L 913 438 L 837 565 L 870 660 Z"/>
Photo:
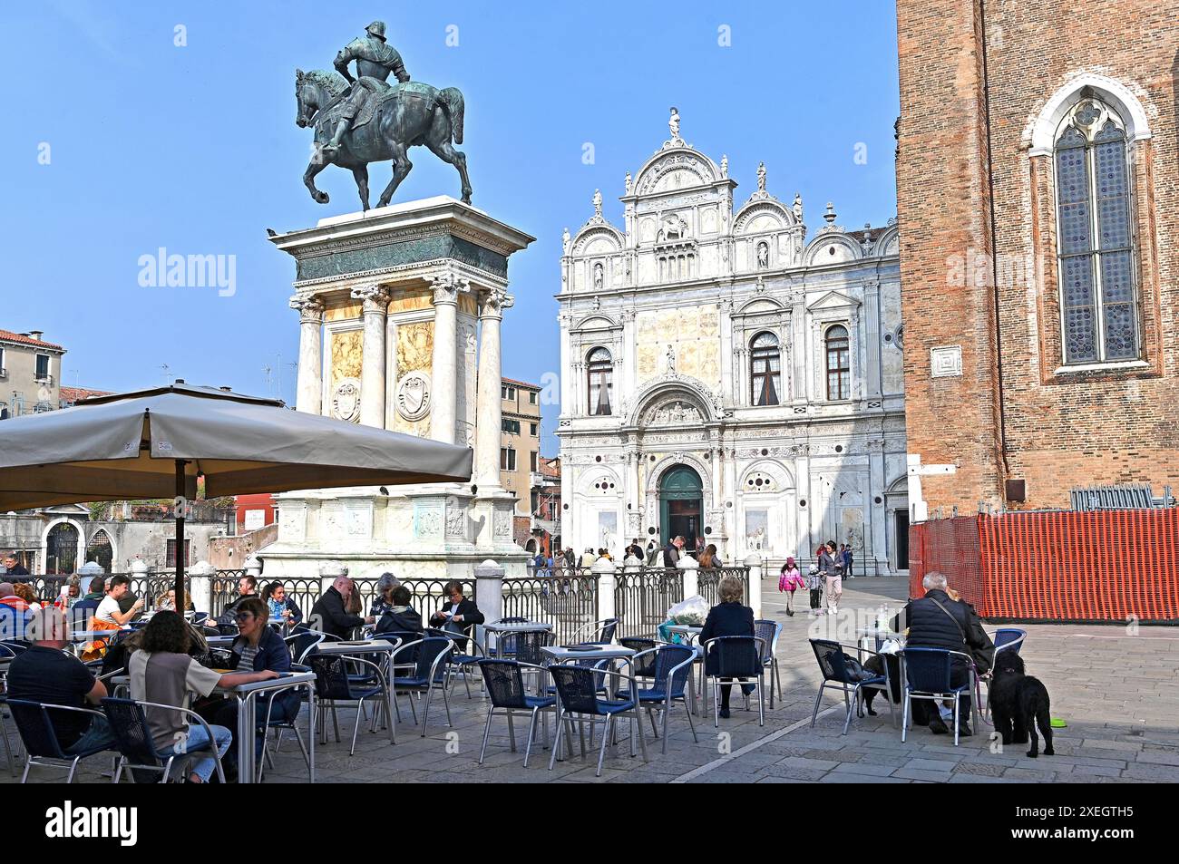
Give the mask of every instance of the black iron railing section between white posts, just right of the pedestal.
<path id="1" fill-rule="evenodd" d="M 558 645 L 568 644 L 584 625 L 598 620 L 598 576 L 588 568 L 528 568 L 503 580 L 503 618 L 553 625 Z"/>

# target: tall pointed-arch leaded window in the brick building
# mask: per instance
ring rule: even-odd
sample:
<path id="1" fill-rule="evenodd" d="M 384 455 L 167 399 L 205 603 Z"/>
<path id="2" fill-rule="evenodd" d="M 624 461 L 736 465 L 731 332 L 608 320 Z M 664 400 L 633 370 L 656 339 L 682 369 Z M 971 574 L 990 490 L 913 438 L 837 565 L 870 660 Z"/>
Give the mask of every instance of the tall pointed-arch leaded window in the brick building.
<path id="1" fill-rule="evenodd" d="M 1081 99 L 1061 121 L 1056 253 L 1065 363 L 1139 356 L 1126 126 L 1109 106 Z"/>

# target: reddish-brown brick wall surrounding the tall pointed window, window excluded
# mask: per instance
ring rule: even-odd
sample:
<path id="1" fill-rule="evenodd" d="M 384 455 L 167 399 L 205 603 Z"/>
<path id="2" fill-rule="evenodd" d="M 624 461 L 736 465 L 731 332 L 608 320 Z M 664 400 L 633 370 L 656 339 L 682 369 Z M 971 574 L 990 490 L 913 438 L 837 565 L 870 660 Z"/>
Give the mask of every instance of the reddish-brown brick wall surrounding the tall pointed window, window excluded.
<path id="1" fill-rule="evenodd" d="M 1072 486 L 1179 487 L 1179 17 L 1173 5 L 900 0 L 897 24 L 909 451 L 926 464 L 959 466 L 951 475 L 922 477 L 926 502 L 968 512 L 979 501 L 997 504 L 1007 477 L 1025 479 L 1025 506 L 1038 508 L 1067 507 Z M 1086 72 L 1135 94 L 1152 132 L 1129 145 L 1146 365 L 1059 374 L 1052 157 L 1030 156 L 1027 133 L 1049 98 Z M 992 248 L 1001 264 L 999 355 Z M 933 378 L 929 349 L 954 344 L 962 347 L 962 376 Z"/>

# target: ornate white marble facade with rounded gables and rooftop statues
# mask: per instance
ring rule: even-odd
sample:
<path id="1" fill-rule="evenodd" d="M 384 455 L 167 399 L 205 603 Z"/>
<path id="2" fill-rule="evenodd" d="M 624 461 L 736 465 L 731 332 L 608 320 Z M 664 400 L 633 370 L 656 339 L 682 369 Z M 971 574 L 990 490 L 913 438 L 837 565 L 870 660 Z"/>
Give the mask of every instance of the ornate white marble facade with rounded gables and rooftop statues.
<path id="1" fill-rule="evenodd" d="M 623 224 L 564 237 L 561 533 L 579 553 L 681 534 L 805 562 L 849 542 L 855 570 L 908 567 L 898 235 L 757 189 L 735 210 L 679 136 L 633 176 Z"/>

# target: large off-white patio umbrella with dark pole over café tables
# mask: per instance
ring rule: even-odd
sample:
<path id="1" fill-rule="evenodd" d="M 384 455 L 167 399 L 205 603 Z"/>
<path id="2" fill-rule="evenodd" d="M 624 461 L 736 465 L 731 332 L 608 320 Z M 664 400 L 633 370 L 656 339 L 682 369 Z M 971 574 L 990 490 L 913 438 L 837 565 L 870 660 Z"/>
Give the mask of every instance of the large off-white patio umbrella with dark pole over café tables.
<path id="1" fill-rule="evenodd" d="M 172 497 L 176 596 L 184 506 L 205 495 L 466 482 L 472 450 L 291 411 L 281 401 L 177 381 L 0 422 L 0 510 Z"/>

